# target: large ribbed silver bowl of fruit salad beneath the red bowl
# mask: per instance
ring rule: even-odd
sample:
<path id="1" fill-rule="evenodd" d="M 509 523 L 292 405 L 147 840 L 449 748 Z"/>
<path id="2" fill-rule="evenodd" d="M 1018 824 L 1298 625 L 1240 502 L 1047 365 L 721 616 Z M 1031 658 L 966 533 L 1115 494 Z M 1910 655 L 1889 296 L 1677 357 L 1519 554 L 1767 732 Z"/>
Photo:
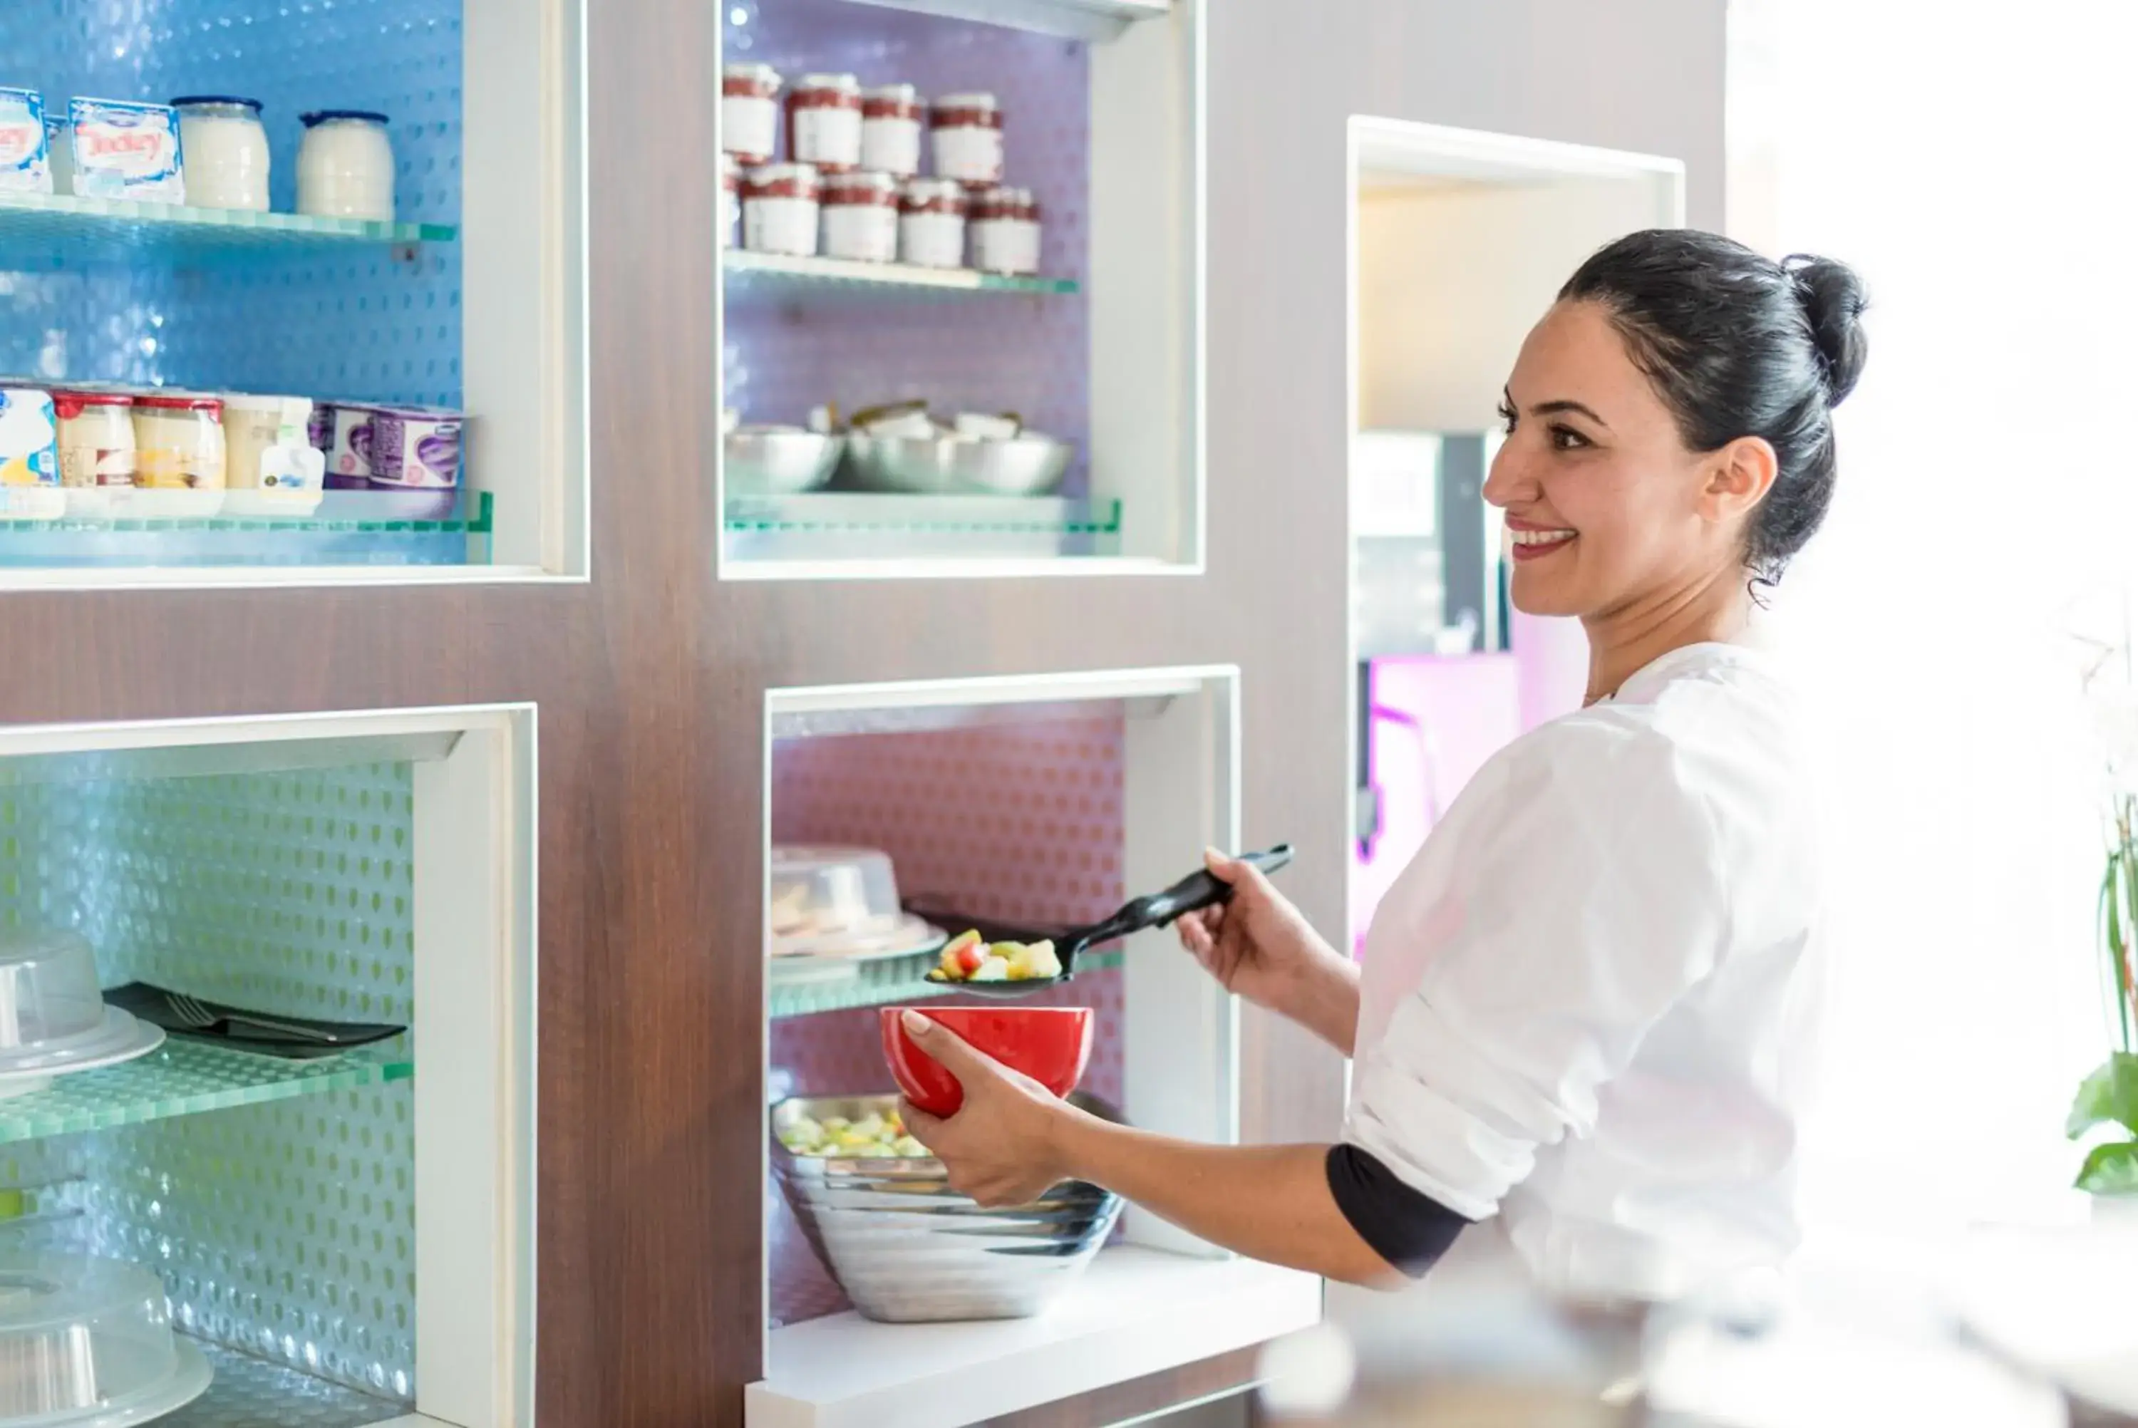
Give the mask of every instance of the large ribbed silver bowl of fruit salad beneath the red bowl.
<path id="1" fill-rule="evenodd" d="M 1118 1120 L 1095 1097 L 1071 1097 Z M 772 1107 L 772 1167 L 817 1259 L 868 1319 L 1028 1319 L 1054 1302 L 1120 1219 L 1120 1197 L 1067 1180 L 1028 1206 L 981 1210 L 949 1189 L 943 1161 L 802 1157 L 778 1144 L 800 1116 L 859 1120 L 881 1097 L 793 1097 Z"/>

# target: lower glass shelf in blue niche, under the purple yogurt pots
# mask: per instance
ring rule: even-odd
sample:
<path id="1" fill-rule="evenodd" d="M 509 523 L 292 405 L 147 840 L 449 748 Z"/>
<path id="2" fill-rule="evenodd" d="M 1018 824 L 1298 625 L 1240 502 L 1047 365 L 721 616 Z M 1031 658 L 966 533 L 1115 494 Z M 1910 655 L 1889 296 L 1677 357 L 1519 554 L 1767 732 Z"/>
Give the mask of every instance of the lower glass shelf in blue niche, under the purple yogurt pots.
<path id="1" fill-rule="evenodd" d="M 327 492 L 301 517 L 0 522 L 0 566 L 490 564 L 490 492 Z M 413 519 L 413 515 L 430 519 Z"/>

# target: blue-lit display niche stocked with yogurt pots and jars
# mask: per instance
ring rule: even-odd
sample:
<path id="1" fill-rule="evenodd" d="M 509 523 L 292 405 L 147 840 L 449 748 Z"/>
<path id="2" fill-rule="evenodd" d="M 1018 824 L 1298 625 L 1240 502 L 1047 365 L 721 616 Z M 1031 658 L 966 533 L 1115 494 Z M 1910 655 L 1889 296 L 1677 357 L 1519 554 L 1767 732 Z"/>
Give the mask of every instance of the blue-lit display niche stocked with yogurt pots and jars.
<path id="1" fill-rule="evenodd" d="M 577 92 L 575 0 L 0 9 L 0 588 L 584 575 Z"/>

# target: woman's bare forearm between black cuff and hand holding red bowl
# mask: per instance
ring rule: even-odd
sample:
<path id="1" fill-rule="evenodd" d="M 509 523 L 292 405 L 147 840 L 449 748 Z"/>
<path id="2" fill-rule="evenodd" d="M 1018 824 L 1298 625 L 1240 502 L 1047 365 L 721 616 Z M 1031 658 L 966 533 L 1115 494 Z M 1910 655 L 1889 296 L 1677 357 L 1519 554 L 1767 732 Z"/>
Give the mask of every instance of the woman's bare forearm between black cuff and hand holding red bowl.
<path id="1" fill-rule="evenodd" d="M 1336 1208 L 1328 1146 L 1197 1146 L 1090 1116 L 1060 1133 L 1071 1176 L 1202 1240 L 1351 1285 L 1400 1283 Z"/>

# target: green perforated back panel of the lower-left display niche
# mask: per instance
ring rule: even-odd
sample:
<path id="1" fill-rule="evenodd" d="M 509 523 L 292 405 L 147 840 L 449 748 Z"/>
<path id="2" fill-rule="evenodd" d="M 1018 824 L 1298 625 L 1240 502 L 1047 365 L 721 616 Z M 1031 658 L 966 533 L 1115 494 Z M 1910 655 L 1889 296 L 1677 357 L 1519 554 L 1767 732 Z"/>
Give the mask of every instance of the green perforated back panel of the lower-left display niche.
<path id="1" fill-rule="evenodd" d="M 77 928 L 105 985 L 406 1024 L 410 842 L 408 765 L 0 787 L 0 921 Z M 154 1266 L 188 1332 L 413 1400 L 410 1114 L 393 1082 L 30 1142 L 0 1186 L 60 1182 L 83 1214 L 36 1233 Z"/>

